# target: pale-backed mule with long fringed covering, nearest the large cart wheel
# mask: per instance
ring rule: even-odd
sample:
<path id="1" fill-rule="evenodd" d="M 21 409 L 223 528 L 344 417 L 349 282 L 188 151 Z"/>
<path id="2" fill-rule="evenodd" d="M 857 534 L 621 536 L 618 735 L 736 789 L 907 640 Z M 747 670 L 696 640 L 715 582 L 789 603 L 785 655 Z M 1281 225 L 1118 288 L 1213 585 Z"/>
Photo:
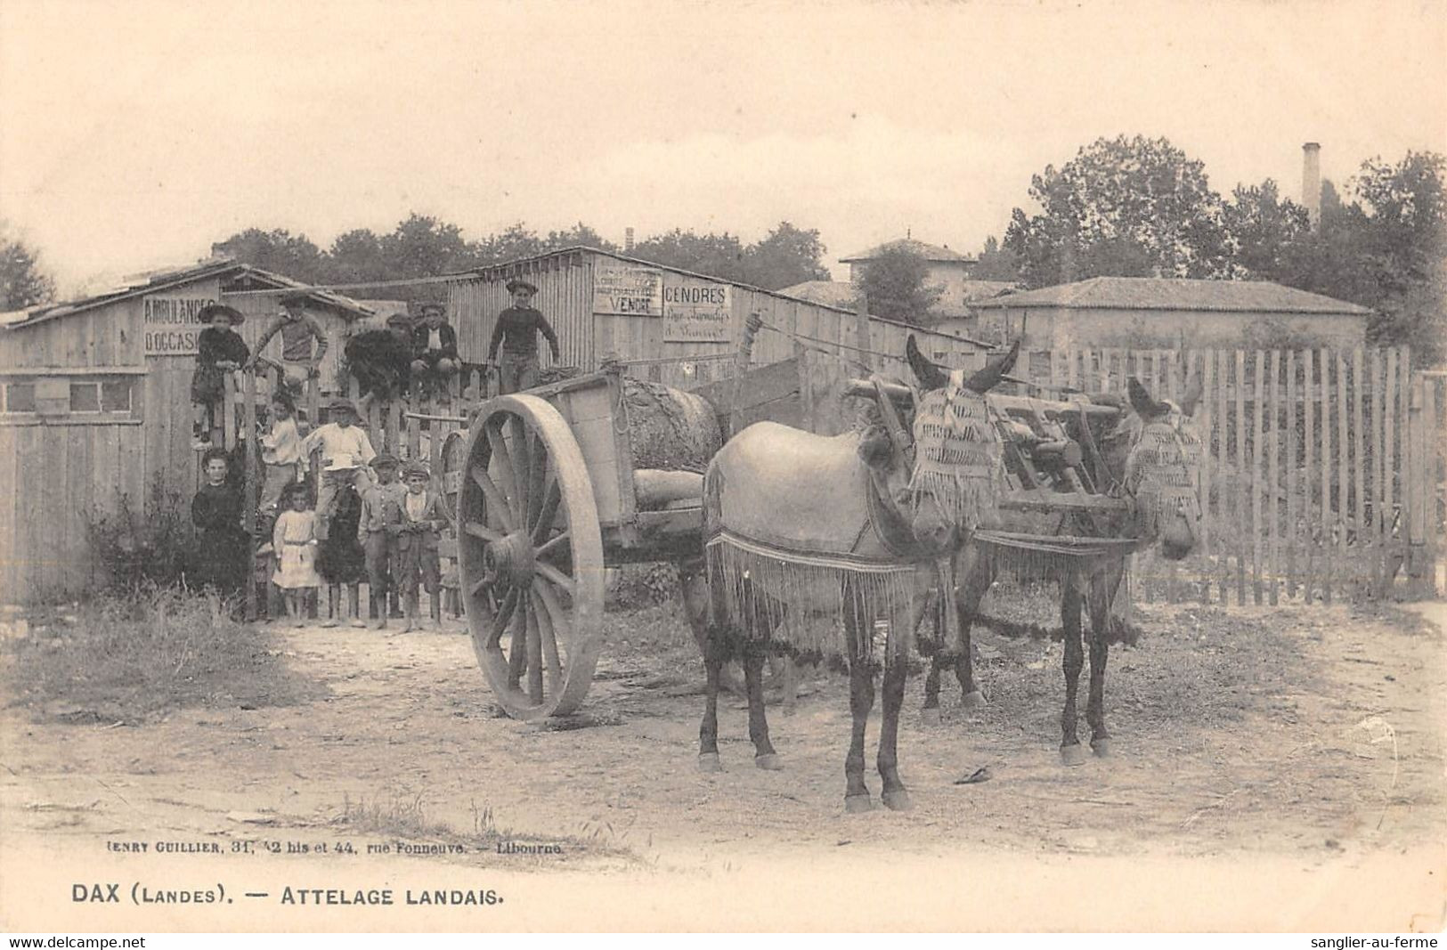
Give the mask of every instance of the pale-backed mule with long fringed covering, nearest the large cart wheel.
<path id="1" fill-rule="evenodd" d="M 984 393 L 1009 372 L 1017 351 L 991 360 L 969 379 L 961 375 L 954 389 L 958 405 L 983 412 Z M 754 762 L 777 769 L 781 759 L 764 713 L 765 656 L 839 656 L 849 669 L 852 714 L 846 811 L 874 807 L 864 749 L 881 669 L 875 761 L 881 800 L 894 810 L 910 804 L 896 749 L 909 646 L 929 590 L 952 587 L 962 536 L 959 510 L 920 503 L 926 493 L 917 454 L 883 389 L 878 412 L 862 432 L 822 437 L 757 422 L 731 438 L 703 479 L 705 561 L 682 570 L 684 604 L 696 632 L 702 628 L 708 675 L 699 768 L 722 768 L 718 693 L 729 659 L 744 667 Z M 938 493 L 928 495 L 933 500 Z M 877 645 L 880 616 L 888 620 L 888 632 Z"/>

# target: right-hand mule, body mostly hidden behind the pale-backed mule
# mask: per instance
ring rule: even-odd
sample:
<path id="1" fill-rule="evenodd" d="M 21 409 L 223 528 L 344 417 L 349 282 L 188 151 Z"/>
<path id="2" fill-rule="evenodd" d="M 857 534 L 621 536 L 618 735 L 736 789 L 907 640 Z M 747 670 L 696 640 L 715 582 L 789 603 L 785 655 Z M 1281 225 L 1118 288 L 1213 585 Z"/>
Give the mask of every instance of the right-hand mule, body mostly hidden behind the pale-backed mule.
<path id="1" fill-rule="evenodd" d="M 909 351 L 910 366 L 926 389 L 943 386 L 945 370 L 930 363 L 917 350 Z M 1201 526 L 1201 437 L 1194 428 L 1194 414 L 1200 402 L 1200 386 L 1194 386 L 1179 403 L 1156 401 L 1137 380 L 1129 382 L 1129 403 L 1110 431 L 1082 428 L 1075 419 L 1069 432 L 1082 444 L 1095 442 L 1104 471 L 1097 482 L 1111 486 L 1111 492 L 1132 500 L 1130 510 L 1116 516 L 1071 513 L 1064 523 L 1048 525 L 1039 516 L 1003 513 L 1001 526 L 1020 534 L 1036 535 L 1097 535 L 1134 539 L 1136 549 L 1159 547 L 1168 561 L 1179 561 L 1191 554 Z M 1106 399 L 1100 399 L 1106 401 Z M 1120 405 L 1114 401 L 1114 405 Z M 1087 523 L 1092 522 L 1092 523 Z M 1091 557 L 1052 557 L 1027 548 L 998 544 L 968 544 L 958 570 L 955 607 L 959 619 L 958 648 L 942 643 L 930 658 L 925 678 L 925 719 L 938 722 L 941 672 L 954 669 L 967 707 L 984 701 L 974 681 L 969 628 L 978 617 L 980 602 L 1001 570 L 1029 580 L 1055 580 L 1061 587 L 1061 625 L 1065 630 L 1065 709 L 1061 713 L 1061 759 L 1066 765 L 1084 762 L 1084 749 L 1077 730 L 1077 694 L 1084 668 L 1081 613 L 1090 616 L 1085 643 L 1090 649 L 1090 687 L 1085 720 L 1091 729 L 1090 745 L 1098 756 L 1110 753 L 1110 730 L 1106 726 L 1106 662 L 1113 635 L 1111 603 L 1120 593 L 1124 557 L 1108 549 Z"/>

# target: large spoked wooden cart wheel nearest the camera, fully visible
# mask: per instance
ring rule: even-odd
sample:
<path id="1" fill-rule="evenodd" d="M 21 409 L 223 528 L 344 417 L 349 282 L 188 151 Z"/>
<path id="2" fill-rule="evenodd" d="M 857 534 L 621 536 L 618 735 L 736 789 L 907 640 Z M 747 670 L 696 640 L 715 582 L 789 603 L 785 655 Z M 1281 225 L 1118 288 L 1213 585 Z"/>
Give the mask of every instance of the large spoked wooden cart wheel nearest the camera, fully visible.
<path id="1" fill-rule="evenodd" d="M 583 454 L 557 409 L 519 393 L 478 414 L 464 464 L 457 570 L 478 662 L 514 719 L 566 716 L 587 694 L 603 616 Z"/>

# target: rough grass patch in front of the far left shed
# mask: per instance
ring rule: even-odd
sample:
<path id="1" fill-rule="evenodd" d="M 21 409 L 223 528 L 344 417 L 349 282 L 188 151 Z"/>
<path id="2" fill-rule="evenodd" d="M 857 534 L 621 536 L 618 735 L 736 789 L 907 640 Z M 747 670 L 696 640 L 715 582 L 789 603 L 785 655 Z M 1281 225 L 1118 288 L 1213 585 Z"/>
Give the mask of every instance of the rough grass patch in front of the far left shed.
<path id="1" fill-rule="evenodd" d="M 35 615 L 4 641 L 12 704 L 39 722 L 126 723 L 182 707 L 292 706 L 323 688 L 291 672 L 271 633 L 213 613 L 174 587 L 101 594 L 69 613 Z"/>

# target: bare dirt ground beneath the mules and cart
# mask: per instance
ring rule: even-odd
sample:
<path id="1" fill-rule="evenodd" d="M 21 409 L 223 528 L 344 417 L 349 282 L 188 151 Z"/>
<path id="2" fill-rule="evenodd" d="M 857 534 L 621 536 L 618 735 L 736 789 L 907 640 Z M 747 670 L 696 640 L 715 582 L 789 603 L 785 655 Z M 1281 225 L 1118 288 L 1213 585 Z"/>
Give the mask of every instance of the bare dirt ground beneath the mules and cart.
<path id="1" fill-rule="evenodd" d="M 292 671 L 324 685 L 317 701 L 181 710 L 139 727 L 38 724 L 7 707 L 0 829 L 12 855 L 65 860 L 111 857 L 117 840 L 223 852 L 464 842 L 430 866 L 624 876 L 845 852 L 1000 868 L 1263 859 L 1312 872 L 1444 840 L 1447 607 L 1174 606 L 1139 622 L 1142 642 L 1110 655 L 1111 758 L 1059 762 L 1059 642 L 981 630 L 988 706 L 961 709 L 948 681 L 943 722 L 926 726 L 923 677 L 912 677 L 900 762 L 915 807 L 864 816 L 842 808 L 839 674 L 809 671 L 796 710 L 770 707 L 784 771 L 754 768 L 738 701 L 721 710 L 726 771 L 696 769 L 702 664 L 669 606 L 608 615 L 593 688 L 566 729 L 502 717 L 460 623 L 278 628 Z M 875 797 L 877 729 L 875 706 Z M 983 766 L 987 781 L 956 784 Z M 499 855 L 502 842 L 561 853 Z M 10 863 L 0 898 L 17 886 Z"/>

